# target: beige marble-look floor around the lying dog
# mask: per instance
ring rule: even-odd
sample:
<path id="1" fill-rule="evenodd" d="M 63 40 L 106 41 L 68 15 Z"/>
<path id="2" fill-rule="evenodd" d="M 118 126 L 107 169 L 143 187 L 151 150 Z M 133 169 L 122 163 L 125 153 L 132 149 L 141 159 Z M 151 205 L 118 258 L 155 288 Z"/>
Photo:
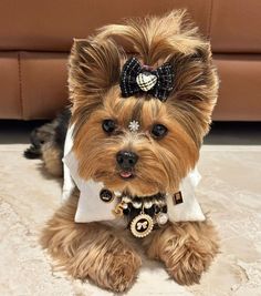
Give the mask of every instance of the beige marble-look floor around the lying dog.
<path id="1" fill-rule="evenodd" d="M 59 205 L 60 181 L 24 160 L 24 146 L 0 145 L 0 295 L 113 295 L 52 271 L 38 234 Z M 127 295 L 261 295 L 261 146 L 203 146 L 199 169 L 198 196 L 218 226 L 222 253 L 190 288 L 146 262 Z"/>

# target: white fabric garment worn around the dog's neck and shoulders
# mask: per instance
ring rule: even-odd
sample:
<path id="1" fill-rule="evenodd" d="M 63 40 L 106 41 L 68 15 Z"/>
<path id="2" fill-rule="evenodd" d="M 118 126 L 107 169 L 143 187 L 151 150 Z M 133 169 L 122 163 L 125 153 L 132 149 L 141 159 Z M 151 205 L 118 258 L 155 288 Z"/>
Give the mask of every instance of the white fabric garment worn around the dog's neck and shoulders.
<path id="1" fill-rule="evenodd" d="M 100 192 L 104 185 L 102 183 L 96 183 L 93 180 L 84 181 L 77 173 L 79 164 L 74 152 L 72 151 L 72 130 L 73 126 L 69 129 L 65 141 L 65 153 L 63 159 L 65 176 L 63 186 L 63 201 L 67 198 L 69 193 L 71 193 L 74 187 L 74 183 L 72 182 L 73 178 L 80 190 L 80 200 L 75 214 L 75 222 L 86 223 L 94 221 L 115 220 L 112 211 L 115 207 L 117 200 L 114 198 L 111 203 L 103 202 L 100 198 Z M 187 177 L 182 180 L 179 188 L 184 200 L 181 204 L 174 204 L 171 194 L 167 194 L 169 221 L 181 222 L 205 220 L 205 215 L 195 196 L 195 188 L 199 181 L 200 174 L 198 173 L 197 169 L 191 171 Z"/>

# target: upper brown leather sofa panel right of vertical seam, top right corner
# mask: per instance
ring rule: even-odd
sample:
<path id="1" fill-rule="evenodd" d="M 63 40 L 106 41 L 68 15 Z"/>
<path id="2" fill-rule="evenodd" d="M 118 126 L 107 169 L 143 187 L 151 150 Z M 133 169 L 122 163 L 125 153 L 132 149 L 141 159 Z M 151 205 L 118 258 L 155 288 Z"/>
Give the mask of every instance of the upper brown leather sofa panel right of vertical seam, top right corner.
<path id="1" fill-rule="evenodd" d="M 261 53 L 260 0 L 213 0 L 210 18 L 215 52 Z"/>

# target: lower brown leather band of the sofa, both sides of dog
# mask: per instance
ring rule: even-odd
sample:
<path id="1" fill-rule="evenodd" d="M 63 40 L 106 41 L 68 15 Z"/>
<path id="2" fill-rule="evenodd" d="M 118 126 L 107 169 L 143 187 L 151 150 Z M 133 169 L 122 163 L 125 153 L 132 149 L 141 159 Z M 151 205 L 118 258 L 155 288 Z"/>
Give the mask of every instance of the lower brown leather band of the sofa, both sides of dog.
<path id="1" fill-rule="evenodd" d="M 66 53 L 0 54 L 0 118 L 51 119 L 67 100 Z M 260 121 L 261 57 L 217 54 L 221 80 L 215 120 Z"/>

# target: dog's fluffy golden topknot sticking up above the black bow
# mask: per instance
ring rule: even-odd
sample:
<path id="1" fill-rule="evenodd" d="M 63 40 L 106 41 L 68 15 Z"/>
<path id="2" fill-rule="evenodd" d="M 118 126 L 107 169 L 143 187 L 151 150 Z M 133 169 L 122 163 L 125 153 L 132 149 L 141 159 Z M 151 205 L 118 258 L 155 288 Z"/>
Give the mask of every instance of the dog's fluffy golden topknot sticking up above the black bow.
<path id="1" fill-rule="evenodd" d="M 96 38 L 114 39 L 126 52 L 136 53 L 149 65 L 169 59 L 174 52 L 191 54 L 209 45 L 199 37 L 198 28 L 191 23 L 186 10 L 105 25 L 98 30 Z"/>

